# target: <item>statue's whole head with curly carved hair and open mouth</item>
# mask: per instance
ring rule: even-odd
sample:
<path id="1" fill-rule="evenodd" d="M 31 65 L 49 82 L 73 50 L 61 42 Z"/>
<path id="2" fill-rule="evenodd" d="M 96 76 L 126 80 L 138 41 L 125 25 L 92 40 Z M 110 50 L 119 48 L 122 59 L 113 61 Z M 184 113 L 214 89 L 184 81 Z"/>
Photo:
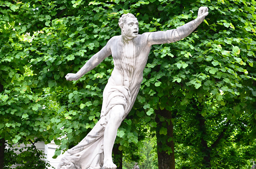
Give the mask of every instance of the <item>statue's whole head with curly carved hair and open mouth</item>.
<path id="1" fill-rule="evenodd" d="M 126 36 L 128 39 L 138 36 L 139 22 L 133 14 L 123 14 L 119 19 L 118 25 L 121 28 L 122 35 Z"/>

